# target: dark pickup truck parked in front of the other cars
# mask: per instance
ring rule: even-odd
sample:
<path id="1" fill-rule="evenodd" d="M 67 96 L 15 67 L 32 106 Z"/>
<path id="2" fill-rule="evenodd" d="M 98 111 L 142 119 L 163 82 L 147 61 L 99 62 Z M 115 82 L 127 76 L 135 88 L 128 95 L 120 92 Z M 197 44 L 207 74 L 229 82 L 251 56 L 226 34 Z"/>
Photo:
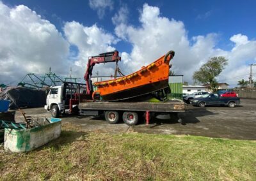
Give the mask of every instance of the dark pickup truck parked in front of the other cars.
<path id="1" fill-rule="evenodd" d="M 202 96 L 202 98 L 195 98 L 191 100 L 191 105 L 200 106 L 202 108 L 209 105 L 225 105 L 230 108 L 234 108 L 234 106 L 239 104 L 240 98 L 221 97 L 220 94 L 205 94 L 204 96 Z"/>

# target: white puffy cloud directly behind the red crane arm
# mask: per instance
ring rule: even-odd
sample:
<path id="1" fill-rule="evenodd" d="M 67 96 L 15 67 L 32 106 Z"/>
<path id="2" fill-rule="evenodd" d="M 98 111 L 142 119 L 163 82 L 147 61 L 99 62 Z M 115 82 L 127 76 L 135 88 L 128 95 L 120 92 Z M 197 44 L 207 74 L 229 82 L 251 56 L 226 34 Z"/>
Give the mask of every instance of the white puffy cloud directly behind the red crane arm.
<path id="1" fill-rule="evenodd" d="M 84 69 L 87 66 L 88 57 L 98 55 L 102 52 L 110 52 L 115 50 L 112 45 L 117 43 L 116 38 L 96 24 L 86 27 L 78 22 L 67 22 L 64 27 L 67 40 L 76 45 L 79 50 L 79 55 L 75 64 L 77 65 L 76 72 L 79 75 L 84 74 Z M 113 75 L 113 64 L 99 64 L 95 66 L 93 72 L 100 71 L 99 75 Z M 94 74 L 95 75 L 95 74 Z"/>

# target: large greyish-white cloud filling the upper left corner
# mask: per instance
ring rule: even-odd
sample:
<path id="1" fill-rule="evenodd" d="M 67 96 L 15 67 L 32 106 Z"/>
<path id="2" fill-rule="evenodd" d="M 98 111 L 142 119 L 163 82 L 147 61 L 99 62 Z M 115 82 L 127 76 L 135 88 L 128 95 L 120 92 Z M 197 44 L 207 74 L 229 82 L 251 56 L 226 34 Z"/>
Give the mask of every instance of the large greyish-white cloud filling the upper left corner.
<path id="1" fill-rule="evenodd" d="M 35 11 L 24 5 L 9 8 L 0 1 L 0 82 L 21 80 L 29 72 L 45 73 L 50 66 L 63 73 L 68 47 L 56 27 Z"/>

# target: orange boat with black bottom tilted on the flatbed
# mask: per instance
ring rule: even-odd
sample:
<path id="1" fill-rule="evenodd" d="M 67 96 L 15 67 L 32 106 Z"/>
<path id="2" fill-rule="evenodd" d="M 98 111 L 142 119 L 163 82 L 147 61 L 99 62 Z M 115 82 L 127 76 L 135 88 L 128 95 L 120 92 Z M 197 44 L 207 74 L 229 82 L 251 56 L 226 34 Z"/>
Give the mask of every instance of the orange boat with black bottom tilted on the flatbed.
<path id="1" fill-rule="evenodd" d="M 169 62 L 173 56 L 174 52 L 170 51 L 157 61 L 130 75 L 114 80 L 95 82 L 97 91 L 93 92 L 93 97 L 99 94 L 104 101 L 116 101 L 134 98 L 168 87 Z"/>

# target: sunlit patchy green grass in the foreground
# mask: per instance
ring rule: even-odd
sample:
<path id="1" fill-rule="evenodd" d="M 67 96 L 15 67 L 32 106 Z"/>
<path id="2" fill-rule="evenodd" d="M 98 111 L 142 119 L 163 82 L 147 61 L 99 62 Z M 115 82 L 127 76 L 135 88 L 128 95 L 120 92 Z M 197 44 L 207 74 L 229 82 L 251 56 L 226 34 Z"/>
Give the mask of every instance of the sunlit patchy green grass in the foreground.
<path id="1" fill-rule="evenodd" d="M 84 133 L 27 154 L 0 148 L 0 180 L 256 180 L 256 142 L 163 134 Z"/>

